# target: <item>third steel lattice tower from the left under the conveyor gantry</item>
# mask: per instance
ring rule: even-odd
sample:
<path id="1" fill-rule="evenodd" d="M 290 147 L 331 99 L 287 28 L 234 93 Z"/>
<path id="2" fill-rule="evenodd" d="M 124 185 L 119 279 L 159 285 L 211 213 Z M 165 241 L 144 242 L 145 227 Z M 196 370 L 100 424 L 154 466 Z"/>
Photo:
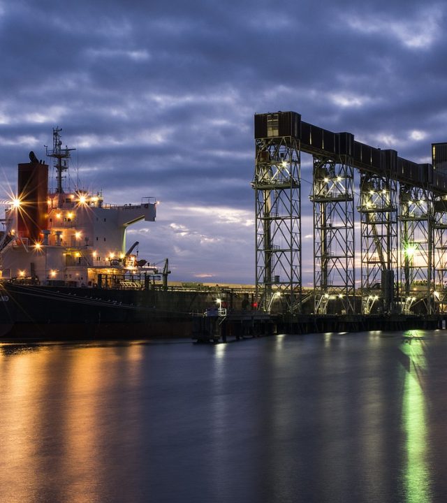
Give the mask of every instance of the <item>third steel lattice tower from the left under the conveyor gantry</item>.
<path id="1" fill-rule="evenodd" d="M 362 314 L 390 313 L 397 299 L 397 181 L 360 175 Z"/>

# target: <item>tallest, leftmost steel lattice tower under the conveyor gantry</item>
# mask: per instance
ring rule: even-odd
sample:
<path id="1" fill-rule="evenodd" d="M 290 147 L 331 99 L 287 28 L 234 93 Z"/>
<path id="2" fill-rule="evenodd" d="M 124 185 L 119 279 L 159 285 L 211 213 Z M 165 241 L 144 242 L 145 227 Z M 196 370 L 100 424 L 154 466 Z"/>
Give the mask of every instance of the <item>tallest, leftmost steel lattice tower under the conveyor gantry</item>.
<path id="1" fill-rule="evenodd" d="M 270 311 L 282 297 L 301 312 L 300 142 L 292 136 L 256 139 L 256 298 Z"/>

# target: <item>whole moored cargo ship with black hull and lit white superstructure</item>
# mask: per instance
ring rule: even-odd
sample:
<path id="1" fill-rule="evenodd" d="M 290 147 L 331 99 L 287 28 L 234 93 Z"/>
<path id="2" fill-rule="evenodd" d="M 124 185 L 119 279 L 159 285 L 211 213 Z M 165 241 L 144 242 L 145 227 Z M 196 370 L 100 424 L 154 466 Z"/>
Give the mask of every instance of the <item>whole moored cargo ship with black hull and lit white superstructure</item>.
<path id="1" fill-rule="evenodd" d="M 53 129 L 46 156 L 29 153 L 17 171 L 0 234 L 0 337 L 91 339 L 182 337 L 191 314 L 216 303 L 213 292 L 168 287 L 168 259 L 159 268 L 126 247 L 126 229 L 154 222 L 155 198 L 105 203 L 102 191 L 70 188 L 71 151 Z"/>

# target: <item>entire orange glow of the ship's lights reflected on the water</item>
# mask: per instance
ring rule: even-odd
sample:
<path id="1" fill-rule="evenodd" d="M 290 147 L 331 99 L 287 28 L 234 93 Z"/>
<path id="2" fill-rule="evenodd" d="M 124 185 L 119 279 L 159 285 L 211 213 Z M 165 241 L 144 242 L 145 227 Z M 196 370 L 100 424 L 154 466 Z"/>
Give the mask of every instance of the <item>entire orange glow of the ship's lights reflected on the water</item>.
<path id="1" fill-rule="evenodd" d="M 132 462 L 140 435 L 129 428 L 138 404 L 126 407 L 115 389 L 132 396 L 141 351 L 54 344 L 0 357 L 2 502 L 107 500 L 106 481 Z M 122 456 L 114 462 L 110 452 Z"/>

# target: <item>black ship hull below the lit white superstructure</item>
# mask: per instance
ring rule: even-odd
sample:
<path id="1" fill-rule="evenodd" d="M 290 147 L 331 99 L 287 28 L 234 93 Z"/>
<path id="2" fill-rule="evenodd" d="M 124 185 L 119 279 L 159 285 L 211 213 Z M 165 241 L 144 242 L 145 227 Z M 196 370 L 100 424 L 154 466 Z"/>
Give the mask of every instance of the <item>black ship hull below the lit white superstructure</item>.
<path id="1" fill-rule="evenodd" d="M 3 340 L 91 340 L 191 337 L 193 314 L 211 293 L 113 290 L 2 283 Z"/>

